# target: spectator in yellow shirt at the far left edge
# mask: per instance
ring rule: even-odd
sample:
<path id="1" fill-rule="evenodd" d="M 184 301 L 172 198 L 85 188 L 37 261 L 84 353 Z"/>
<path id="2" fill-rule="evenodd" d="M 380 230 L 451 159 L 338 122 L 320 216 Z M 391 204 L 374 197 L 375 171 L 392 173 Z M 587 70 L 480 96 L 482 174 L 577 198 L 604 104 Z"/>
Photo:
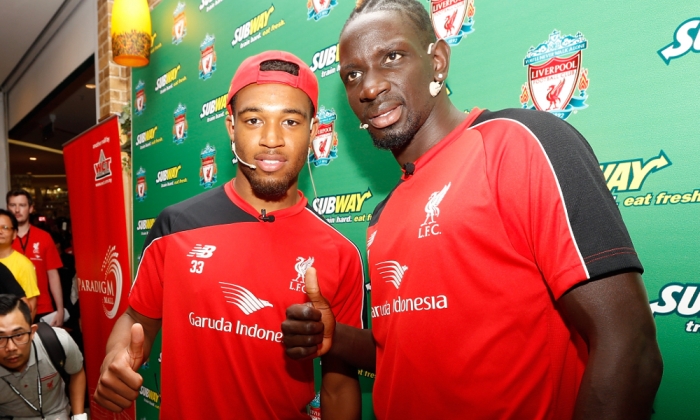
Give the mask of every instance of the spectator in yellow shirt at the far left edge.
<path id="1" fill-rule="evenodd" d="M 0 263 L 4 264 L 24 289 L 32 318 L 36 314 L 39 287 L 36 282 L 34 264 L 29 258 L 12 249 L 12 241 L 17 236 L 17 219 L 11 212 L 0 209 Z"/>

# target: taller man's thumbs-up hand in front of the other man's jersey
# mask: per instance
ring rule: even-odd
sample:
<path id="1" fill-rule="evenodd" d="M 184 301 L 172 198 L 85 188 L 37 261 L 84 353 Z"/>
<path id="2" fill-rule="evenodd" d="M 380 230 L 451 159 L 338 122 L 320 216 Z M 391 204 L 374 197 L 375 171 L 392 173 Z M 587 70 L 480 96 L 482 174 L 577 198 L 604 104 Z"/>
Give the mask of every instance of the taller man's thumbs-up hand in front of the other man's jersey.
<path id="1" fill-rule="evenodd" d="M 306 270 L 304 283 L 310 302 L 287 308 L 287 319 L 282 322 L 285 352 L 295 360 L 326 354 L 331 348 L 335 331 L 335 316 L 328 300 L 321 295 L 315 268 Z"/>

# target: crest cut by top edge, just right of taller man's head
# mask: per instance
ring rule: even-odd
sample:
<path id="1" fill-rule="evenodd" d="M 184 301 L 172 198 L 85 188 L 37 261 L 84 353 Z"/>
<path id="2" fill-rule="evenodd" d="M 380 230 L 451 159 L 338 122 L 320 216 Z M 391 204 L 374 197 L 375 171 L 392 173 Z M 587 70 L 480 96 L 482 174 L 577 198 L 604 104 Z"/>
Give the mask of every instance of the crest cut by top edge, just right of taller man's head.
<path id="1" fill-rule="evenodd" d="M 430 20 L 438 39 L 454 46 L 474 32 L 474 0 L 431 0 Z"/>

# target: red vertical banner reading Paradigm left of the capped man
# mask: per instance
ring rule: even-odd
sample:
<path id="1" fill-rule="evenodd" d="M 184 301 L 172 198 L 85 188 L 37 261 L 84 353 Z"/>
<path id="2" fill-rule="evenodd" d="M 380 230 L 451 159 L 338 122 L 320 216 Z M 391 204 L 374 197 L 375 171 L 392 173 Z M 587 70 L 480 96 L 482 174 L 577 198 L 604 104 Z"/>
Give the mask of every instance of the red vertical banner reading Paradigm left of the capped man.
<path id="1" fill-rule="evenodd" d="M 92 398 L 107 338 L 127 308 L 131 287 L 120 151 L 116 117 L 63 148 L 93 419 L 134 419 L 133 406 L 114 414 Z"/>

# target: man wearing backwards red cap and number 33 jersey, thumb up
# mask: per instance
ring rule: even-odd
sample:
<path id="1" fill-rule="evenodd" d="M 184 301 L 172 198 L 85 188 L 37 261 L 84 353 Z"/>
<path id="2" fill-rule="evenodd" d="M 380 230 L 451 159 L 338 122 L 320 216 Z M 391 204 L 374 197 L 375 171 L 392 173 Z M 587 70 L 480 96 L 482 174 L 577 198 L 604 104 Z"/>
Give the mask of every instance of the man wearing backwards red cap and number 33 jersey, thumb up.
<path id="1" fill-rule="evenodd" d="M 313 367 L 285 356 L 286 308 L 309 301 L 306 280 L 338 322 L 363 324 L 359 252 L 297 187 L 318 126 L 316 77 L 292 54 L 262 53 L 238 68 L 228 101 L 236 178 L 167 207 L 149 232 L 95 392 L 111 411 L 138 396 L 162 328 L 161 418 L 308 419 Z M 323 416 L 359 418 L 357 370 L 332 358 L 322 369 Z"/>

